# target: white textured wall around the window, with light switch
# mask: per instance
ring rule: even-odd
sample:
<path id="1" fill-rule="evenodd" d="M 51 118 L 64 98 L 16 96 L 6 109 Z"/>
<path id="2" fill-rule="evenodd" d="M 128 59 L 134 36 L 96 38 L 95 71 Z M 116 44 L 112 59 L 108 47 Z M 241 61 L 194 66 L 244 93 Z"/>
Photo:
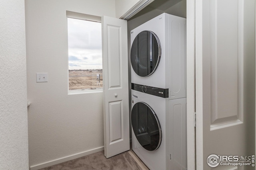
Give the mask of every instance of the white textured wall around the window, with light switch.
<path id="1" fill-rule="evenodd" d="M 66 10 L 115 17 L 115 0 L 25 0 L 25 8 L 30 166 L 103 150 L 102 92 L 68 95 Z M 48 82 L 36 83 L 37 72 Z"/>

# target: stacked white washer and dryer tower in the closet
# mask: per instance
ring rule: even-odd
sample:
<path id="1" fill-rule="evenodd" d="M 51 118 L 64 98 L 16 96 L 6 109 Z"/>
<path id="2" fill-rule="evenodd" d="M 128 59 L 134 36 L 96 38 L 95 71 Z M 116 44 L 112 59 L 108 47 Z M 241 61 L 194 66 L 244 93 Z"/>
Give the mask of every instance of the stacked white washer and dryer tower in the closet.
<path id="1" fill-rule="evenodd" d="M 150 170 L 186 170 L 186 19 L 131 31 L 132 150 Z"/>

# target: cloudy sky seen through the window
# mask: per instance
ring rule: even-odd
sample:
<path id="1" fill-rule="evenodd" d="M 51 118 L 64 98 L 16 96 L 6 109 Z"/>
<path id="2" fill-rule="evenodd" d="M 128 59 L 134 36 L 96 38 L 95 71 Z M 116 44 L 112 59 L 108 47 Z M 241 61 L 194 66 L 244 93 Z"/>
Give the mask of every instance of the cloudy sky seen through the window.
<path id="1" fill-rule="evenodd" d="M 102 69 L 101 23 L 68 18 L 69 69 Z"/>

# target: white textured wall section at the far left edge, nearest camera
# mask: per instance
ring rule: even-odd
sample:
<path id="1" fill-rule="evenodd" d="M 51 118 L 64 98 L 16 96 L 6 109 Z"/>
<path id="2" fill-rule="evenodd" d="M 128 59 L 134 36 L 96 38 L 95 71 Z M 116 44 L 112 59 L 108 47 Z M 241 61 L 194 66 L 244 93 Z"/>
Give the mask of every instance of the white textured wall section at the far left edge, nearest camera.
<path id="1" fill-rule="evenodd" d="M 28 169 L 24 0 L 0 1 L 0 169 Z"/>

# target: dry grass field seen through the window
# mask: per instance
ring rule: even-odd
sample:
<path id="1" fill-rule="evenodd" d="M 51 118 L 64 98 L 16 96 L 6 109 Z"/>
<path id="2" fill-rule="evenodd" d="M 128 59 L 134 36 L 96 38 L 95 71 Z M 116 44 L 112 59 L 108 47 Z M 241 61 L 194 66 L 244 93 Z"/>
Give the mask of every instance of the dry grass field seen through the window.
<path id="1" fill-rule="evenodd" d="M 100 83 L 97 85 L 97 74 L 100 74 Z M 102 70 L 70 70 L 69 90 L 102 88 Z"/>

